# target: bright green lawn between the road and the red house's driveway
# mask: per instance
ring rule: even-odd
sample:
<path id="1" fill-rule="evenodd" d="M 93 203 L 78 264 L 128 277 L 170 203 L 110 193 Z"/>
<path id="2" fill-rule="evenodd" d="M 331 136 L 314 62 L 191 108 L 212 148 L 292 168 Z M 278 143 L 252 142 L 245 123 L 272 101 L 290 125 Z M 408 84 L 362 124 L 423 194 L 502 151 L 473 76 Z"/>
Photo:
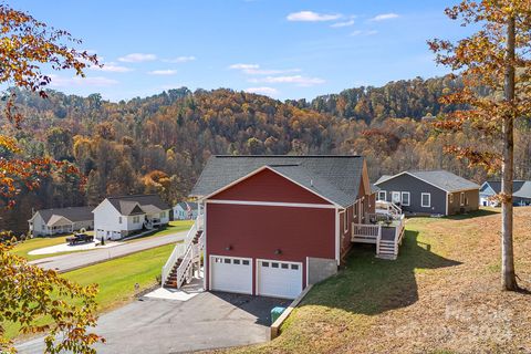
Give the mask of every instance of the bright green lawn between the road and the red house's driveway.
<path id="1" fill-rule="evenodd" d="M 156 277 L 171 253 L 174 244 L 162 246 L 104 263 L 90 266 L 62 274 L 62 277 L 83 285 L 96 283 L 100 291 L 96 296 L 98 312 L 110 311 L 129 302 L 135 295 L 135 283 L 139 291 L 156 284 Z M 41 319 L 39 324 L 49 322 Z M 6 324 L 8 337 L 18 335 L 19 326 Z"/>

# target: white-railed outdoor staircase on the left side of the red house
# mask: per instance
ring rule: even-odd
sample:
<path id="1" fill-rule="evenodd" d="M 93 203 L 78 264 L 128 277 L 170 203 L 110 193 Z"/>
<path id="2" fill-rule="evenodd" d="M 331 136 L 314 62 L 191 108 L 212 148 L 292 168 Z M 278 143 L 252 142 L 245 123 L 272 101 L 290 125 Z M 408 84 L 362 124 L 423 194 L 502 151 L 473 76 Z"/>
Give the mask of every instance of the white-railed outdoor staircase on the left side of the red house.
<path id="1" fill-rule="evenodd" d="M 184 242 L 177 243 L 163 267 L 162 283 L 165 288 L 180 289 L 199 277 L 201 253 L 205 249 L 202 216 L 188 231 Z"/>

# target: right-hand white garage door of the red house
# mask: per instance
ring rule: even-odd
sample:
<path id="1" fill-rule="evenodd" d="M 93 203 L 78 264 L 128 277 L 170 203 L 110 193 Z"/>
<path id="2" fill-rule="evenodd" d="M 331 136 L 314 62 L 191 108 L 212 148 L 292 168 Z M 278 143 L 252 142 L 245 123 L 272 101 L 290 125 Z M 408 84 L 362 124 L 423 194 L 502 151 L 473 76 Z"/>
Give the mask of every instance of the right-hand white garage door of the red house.
<path id="1" fill-rule="evenodd" d="M 258 260 L 258 294 L 295 299 L 302 291 L 302 263 Z"/>

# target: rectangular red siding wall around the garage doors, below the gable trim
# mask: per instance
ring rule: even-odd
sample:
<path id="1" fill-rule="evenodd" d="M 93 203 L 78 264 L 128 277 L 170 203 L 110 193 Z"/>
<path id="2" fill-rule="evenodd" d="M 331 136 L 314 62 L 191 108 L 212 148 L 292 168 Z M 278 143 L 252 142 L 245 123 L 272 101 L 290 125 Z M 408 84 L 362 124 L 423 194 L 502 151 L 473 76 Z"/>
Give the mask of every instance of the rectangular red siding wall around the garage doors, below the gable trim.
<path id="1" fill-rule="evenodd" d="M 210 254 L 253 259 L 253 292 L 257 258 L 302 262 L 303 288 L 306 257 L 335 259 L 335 209 L 207 202 L 206 230 L 208 260 Z"/>

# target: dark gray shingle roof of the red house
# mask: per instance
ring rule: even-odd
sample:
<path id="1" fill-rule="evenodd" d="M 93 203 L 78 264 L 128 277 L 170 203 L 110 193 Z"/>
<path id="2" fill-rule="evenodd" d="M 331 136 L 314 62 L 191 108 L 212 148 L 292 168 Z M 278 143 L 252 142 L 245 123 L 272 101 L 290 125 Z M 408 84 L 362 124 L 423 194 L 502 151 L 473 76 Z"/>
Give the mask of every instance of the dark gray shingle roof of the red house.
<path id="1" fill-rule="evenodd" d="M 208 196 L 250 173 L 268 166 L 280 175 L 342 206 L 352 205 L 360 190 L 361 156 L 212 156 L 190 195 Z"/>

